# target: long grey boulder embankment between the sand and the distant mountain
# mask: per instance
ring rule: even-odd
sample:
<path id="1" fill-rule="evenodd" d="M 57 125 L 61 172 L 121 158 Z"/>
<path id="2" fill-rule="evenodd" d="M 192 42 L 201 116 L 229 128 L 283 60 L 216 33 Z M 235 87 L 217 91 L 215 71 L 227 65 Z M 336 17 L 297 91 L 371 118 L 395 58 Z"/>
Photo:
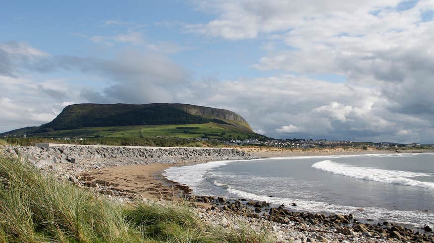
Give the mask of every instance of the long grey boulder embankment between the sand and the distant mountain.
<path id="1" fill-rule="evenodd" d="M 109 146 L 53 146 L 50 148 L 3 146 L 9 157 L 21 157 L 60 179 L 77 182 L 76 176 L 91 169 L 131 164 L 199 162 L 251 159 L 252 155 L 221 148 L 133 148 Z"/>

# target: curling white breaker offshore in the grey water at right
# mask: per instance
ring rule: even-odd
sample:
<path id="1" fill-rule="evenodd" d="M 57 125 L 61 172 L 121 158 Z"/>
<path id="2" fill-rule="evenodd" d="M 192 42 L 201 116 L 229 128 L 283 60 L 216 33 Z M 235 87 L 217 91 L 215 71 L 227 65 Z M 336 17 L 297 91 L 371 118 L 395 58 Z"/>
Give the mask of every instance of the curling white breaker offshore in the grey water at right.
<path id="1" fill-rule="evenodd" d="M 417 176 L 431 176 L 430 174 L 426 174 L 426 173 L 357 167 L 357 166 L 332 162 L 330 160 L 316 162 L 312 165 L 312 167 L 316 169 L 321 169 L 326 172 L 331 172 L 333 174 L 358 178 L 362 180 L 434 189 L 433 182 L 424 182 L 424 181 L 409 179 L 411 177 L 417 177 Z"/>

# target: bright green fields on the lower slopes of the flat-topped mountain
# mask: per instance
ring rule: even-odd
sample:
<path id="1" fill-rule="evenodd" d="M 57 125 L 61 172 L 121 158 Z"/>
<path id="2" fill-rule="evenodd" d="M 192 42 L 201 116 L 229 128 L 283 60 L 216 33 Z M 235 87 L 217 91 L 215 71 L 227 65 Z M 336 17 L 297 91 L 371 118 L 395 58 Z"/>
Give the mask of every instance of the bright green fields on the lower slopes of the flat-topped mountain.
<path id="1" fill-rule="evenodd" d="M 73 130 L 60 130 L 38 133 L 38 137 L 164 137 L 164 138 L 216 138 L 216 139 L 245 139 L 261 138 L 262 135 L 238 129 L 229 124 L 209 122 L 205 124 L 178 125 L 134 125 L 134 126 L 105 126 L 83 127 Z"/>

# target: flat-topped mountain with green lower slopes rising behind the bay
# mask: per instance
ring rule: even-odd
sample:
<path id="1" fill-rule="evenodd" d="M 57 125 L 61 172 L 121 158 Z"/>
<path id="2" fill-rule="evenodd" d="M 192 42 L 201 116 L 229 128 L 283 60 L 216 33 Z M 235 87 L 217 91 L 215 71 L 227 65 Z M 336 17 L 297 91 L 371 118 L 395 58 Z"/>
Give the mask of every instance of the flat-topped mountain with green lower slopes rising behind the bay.
<path id="1" fill-rule="evenodd" d="M 52 122 L 2 134 L 23 133 L 30 136 L 52 137 L 246 138 L 259 135 L 253 132 L 244 118 L 232 111 L 168 103 L 70 105 L 65 107 Z"/>

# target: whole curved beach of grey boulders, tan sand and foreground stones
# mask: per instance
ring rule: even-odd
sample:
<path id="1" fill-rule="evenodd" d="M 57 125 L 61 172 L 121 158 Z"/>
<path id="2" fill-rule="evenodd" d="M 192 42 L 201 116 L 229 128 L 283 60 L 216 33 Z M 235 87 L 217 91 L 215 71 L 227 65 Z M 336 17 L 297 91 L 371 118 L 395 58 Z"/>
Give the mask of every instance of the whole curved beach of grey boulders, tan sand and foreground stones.
<path id="1" fill-rule="evenodd" d="M 261 230 L 266 227 L 276 242 L 429 242 L 433 240 L 429 229 L 425 232 L 389 222 L 371 225 L 369 222 L 358 221 L 352 215 L 295 212 L 281 206 L 270 206 L 266 202 L 247 201 L 241 198 L 194 197 L 190 195 L 191 190 L 188 187 L 168 181 L 162 176 L 163 171 L 169 167 L 210 161 L 399 153 L 402 151 L 394 152 L 374 148 L 368 150 L 354 148 L 285 150 L 260 147 L 214 150 L 61 146 L 49 149 L 6 148 L 7 153 L 15 150 L 19 150 L 23 155 L 27 153 L 27 157 L 42 154 L 43 160 L 35 160 L 37 161 L 35 163 L 43 170 L 54 173 L 59 179 L 70 180 L 80 187 L 103 194 L 116 202 L 134 203 L 137 200 L 188 202 L 196 208 L 204 221 L 222 227 L 235 227 L 241 220 L 254 229 Z M 54 161 L 59 157 L 61 161 L 62 155 L 66 155 L 63 162 L 41 163 L 51 157 Z"/>

